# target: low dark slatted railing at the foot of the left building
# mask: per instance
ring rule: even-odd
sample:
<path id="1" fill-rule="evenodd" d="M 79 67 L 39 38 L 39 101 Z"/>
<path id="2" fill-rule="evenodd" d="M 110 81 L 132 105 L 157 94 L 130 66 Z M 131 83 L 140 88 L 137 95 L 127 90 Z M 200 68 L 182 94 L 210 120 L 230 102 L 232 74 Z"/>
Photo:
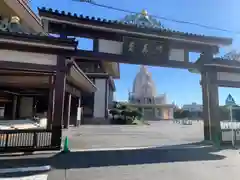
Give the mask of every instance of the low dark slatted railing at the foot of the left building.
<path id="1" fill-rule="evenodd" d="M 53 146 L 54 137 L 56 136 L 53 136 L 53 131 L 46 129 L 1 130 L 0 152 L 59 150 L 61 137 L 58 137 L 59 144 Z"/>

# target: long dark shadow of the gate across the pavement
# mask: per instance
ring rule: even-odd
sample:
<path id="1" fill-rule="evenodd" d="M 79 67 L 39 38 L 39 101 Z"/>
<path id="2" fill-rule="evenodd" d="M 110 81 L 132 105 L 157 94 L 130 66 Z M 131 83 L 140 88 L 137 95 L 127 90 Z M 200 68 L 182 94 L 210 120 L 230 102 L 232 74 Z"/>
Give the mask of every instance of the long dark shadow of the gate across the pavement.
<path id="1" fill-rule="evenodd" d="M 44 155 L 40 157 L 31 155 L 0 158 L 0 168 L 51 165 L 53 169 L 75 169 L 186 161 L 213 161 L 225 158 L 225 156 L 213 154 L 216 151 L 217 149 L 210 145 L 201 146 L 201 143 L 194 143 L 136 150 L 69 152 L 66 154 L 59 153 L 50 157 L 49 155 L 45 157 Z"/>

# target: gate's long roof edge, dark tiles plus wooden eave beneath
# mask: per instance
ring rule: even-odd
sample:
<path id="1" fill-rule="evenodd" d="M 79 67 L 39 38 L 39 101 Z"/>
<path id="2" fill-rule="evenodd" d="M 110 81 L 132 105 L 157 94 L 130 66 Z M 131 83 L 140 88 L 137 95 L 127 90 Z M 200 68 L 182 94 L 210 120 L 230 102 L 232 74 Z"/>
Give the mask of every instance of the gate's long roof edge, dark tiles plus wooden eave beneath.
<path id="1" fill-rule="evenodd" d="M 123 24 L 119 21 L 111 21 L 97 17 L 78 16 L 76 13 L 60 12 L 58 10 L 41 8 L 39 15 L 51 23 L 64 24 L 80 28 L 89 28 L 107 33 L 118 33 L 119 35 L 138 36 L 144 38 L 164 38 L 175 41 L 191 42 L 210 46 L 226 46 L 232 44 L 231 38 L 204 36 L 199 34 L 179 32 L 169 29 L 143 28 L 132 24 Z"/>

